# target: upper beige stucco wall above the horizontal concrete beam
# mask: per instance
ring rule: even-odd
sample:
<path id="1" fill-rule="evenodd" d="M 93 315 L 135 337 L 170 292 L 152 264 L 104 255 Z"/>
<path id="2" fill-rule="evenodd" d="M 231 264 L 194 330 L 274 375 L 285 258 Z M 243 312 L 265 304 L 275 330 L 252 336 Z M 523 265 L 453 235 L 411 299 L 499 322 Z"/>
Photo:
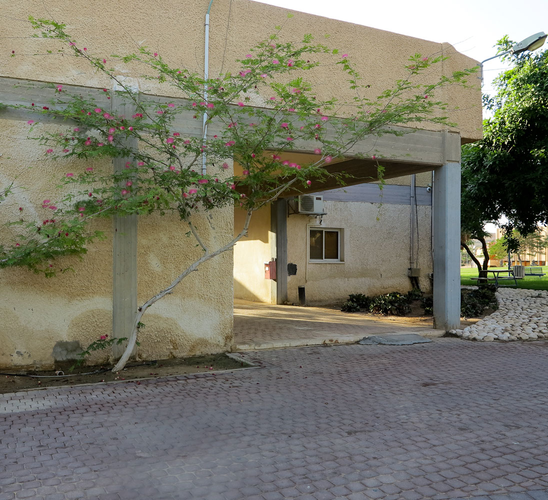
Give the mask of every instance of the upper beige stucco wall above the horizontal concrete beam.
<path id="1" fill-rule="evenodd" d="M 116 66 L 121 74 L 125 74 L 127 67 L 109 56 L 135 52 L 136 43 L 156 50 L 168 64 L 202 71 L 204 16 L 208 4 L 208 0 L 165 0 L 154 5 L 144 0 L 96 0 L 92 6 L 84 0 L 62 4 L 54 0 L 28 0 L 22 7 L 20 2 L 4 1 L 4 19 L 11 20 L 0 25 L 0 53 L 9 54 L 15 50 L 16 57 L 3 59 L 0 74 L 110 87 L 110 82 L 99 72 L 92 74 L 84 61 L 62 58 L 57 54 L 43 55 L 45 49 L 52 48 L 55 42 L 28 38 L 31 29 L 24 21 L 27 15 L 53 17 L 66 22 L 67 30 L 78 43 L 84 44 L 89 53 L 105 57 L 109 65 Z M 423 83 L 477 65 L 477 61 L 456 52 L 447 43 L 429 42 L 298 12 L 293 19 L 287 20 L 287 12 L 288 9 L 248 0 L 215 0 L 210 14 L 210 76 L 235 70 L 237 66 L 233 61 L 243 58 L 260 38 L 281 24 L 280 39 L 299 42 L 303 35 L 312 33 L 319 43 L 328 43 L 330 47 L 339 48 L 341 53 L 349 54 L 357 71 L 363 75 L 363 83 L 370 85 L 369 89 L 363 90 L 368 92 L 369 98 L 375 98 L 381 90 L 390 88 L 396 79 L 406 77 L 403 66 L 409 64 L 409 56 L 415 53 L 450 56 L 443 64 L 433 67 L 421 80 Z M 329 39 L 326 40 L 324 35 L 329 35 Z M 42 55 L 31 55 L 36 53 Z M 139 71 L 145 71 L 145 68 Z M 306 79 L 314 85 L 319 98 L 335 95 L 340 100 L 350 100 L 353 97 L 339 66 L 318 67 L 308 72 Z M 470 83 L 476 88 L 450 86 L 436 95 L 450 107 L 459 107 L 450 116 L 458 123 L 465 141 L 481 138 L 481 91 L 478 82 Z M 153 90 L 155 84 L 147 82 L 145 87 Z M 162 92 L 166 92 L 165 88 Z M 435 127 L 425 124 L 424 128 Z"/>

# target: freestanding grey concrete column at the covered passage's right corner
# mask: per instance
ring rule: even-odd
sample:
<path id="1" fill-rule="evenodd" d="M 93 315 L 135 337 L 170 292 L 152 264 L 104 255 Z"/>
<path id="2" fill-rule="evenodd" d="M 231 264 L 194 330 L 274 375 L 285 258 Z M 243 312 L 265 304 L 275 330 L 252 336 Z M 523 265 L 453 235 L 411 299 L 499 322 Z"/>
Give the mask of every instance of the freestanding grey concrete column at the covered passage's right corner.
<path id="1" fill-rule="evenodd" d="M 446 132 L 433 183 L 434 327 L 460 325 L 460 134 Z"/>

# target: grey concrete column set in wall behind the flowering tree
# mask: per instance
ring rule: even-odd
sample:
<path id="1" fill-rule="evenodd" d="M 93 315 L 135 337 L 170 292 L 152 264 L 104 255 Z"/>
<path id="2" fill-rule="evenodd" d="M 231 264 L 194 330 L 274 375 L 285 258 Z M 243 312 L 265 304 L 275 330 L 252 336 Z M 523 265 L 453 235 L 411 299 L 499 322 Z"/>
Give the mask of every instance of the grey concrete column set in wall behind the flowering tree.
<path id="1" fill-rule="evenodd" d="M 117 90 L 115 86 L 114 90 Z M 121 90 L 121 89 L 118 89 Z M 112 113 L 131 117 L 135 104 L 129 99 L 113 93 Z M 125 146 L 137 149 L 136 139 L 127 139 Z M 125 163 L 133 158 L 115 158 L 115 173 L 125 171 Z M 125 187 L 121 183 L 120 189 Z M 112 221 L 112 335 L 115 338 L 129 338 L 137 314 L 137 215 L 115 215 Z M 127 343 L 112 346 L 112 355 L 122 355 Z"/>

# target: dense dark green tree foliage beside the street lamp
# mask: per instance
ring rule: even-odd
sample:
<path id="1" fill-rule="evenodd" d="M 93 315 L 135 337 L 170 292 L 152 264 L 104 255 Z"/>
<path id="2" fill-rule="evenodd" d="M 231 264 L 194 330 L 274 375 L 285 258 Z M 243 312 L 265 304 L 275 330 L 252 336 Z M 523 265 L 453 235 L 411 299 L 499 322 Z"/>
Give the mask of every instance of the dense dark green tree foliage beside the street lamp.
<path id="1" fill-rule="evenodd" d="M 499 50 L 511 47 L 507 37 Z M 484 137 L 462 149 L 461 225 L 475 237 L 484 223 L 505 215 L 505 246 L 516 252 L 521 235 L 548 220 L 548 51 L 507 55 L 515 66 L 484 96 L 493 117 Z"/>

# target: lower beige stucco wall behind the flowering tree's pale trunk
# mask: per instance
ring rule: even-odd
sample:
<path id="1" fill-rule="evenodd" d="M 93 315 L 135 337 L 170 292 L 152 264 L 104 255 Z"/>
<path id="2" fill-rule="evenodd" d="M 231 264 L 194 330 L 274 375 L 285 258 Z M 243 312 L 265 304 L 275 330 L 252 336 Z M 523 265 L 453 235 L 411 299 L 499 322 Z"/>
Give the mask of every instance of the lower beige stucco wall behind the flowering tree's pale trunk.
<path id="1" fill-rule="evenodd" d="M 59 126 L 38 126 L 43 131 Z M 66 172 L 82 169 L 78 161 L 48 161 L 44 147 L 25 140 L 28 125 L 0 120 L 0 185 L 22 186 L 2 203 L 0 224 L 19 217 L 19 207 L 30 218 L 53 217 L 41 208 L 44 198 L 59 201 L 62 191 L 52 189 Z M 112 169 L 108 161 L 86 163 L 95 169 Z M 30 187 L 25 190 L 24 187 Z M 61 206 L 59 203 L 56 203 Z M 198 215 L 195 225 L 204 242 L 218 248 L 233 234 L 233 209 Z M 105 240 L 92 243 L 82 261 L 64 258 L 55 269 L 73 271 L 46 278 L 24 268 L 0 270 L 0 367 L 52 366 L 55 345 L 77 341 L 87 346 L 101 334 L 112 334 L 112 223 L 99 221 L 96 229 Z M 199 255 L 189 228 L 178 217 L 141 217 L 138 229 L 138 304 L 165 288 Z M 3 241 L 10 236 L 3 228 Z M 15 243 L 15 241 L 13 242 Z M 143 316 L 138 356 L 163 359 L 171 356 L 216 353 L 229 348 L 232 339 L 232 251 L 203 264 L 173 294 L 153 305 Z M 103 361 L 99 351 L 90 361 Z"/>

